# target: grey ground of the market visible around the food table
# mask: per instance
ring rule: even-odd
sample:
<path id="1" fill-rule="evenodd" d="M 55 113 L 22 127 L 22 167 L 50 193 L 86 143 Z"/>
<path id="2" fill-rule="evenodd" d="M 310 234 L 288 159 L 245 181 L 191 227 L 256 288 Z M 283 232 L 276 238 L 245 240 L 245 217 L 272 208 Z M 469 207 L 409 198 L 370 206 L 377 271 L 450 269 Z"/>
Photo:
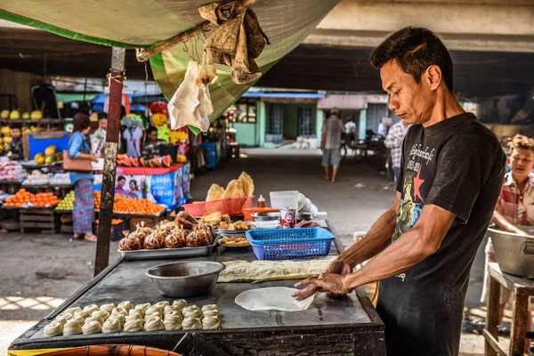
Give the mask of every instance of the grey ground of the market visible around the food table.
<path id="1" fill-rule="evenodd" d="M 364 162 L 344 158 L 338 181 L 322 179 L 320 151 L 242 150 L 242 158 L 191 182 L 193 200 L 206 198 L 209 186 L 225 186 L 241 171 L 255 180 L 255 196 L 267 198 L 271 190 L 299 190 L 328 212 L 344 245 L 352 244 L 354 231 L 366 231 L 391 206 L 394 185 L 383 174 Z M 112 243 L 110 261 L 117 258 L 117 244 Z M 0 235 L 0 355 L 10 341 L 52 312 L 64 299 L 93 278 L 95 245 L 71 242 L 67 235 Z M 481 252 L 481 251 L 479 251 Z M 473 315 L 484 316 L 480 303 L 483 255 L 473 265 L 466 307 Z M 483 354 L 481 336 L 465 335 L 462 354 Z"/>

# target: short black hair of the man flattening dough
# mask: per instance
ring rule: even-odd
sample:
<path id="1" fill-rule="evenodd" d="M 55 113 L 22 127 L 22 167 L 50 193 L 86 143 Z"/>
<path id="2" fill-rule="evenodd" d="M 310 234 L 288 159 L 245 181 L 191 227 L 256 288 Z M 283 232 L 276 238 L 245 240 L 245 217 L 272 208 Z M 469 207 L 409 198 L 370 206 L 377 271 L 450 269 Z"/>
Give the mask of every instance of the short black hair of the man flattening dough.
<path id="1" fill-rule="evenodd" d="M 441 69 L 445 85 L 449 92 L 453 93 L 450 53 L 440 37 L 430 29 L 411 26 L 401 28 L 379 44 L 369 58 L 377 69 L 392 60 L 398 61 L 401 68 L 414 77 L 417 84 L 421 83 L 421 76 L 428 67 L 437 65 Z"/>

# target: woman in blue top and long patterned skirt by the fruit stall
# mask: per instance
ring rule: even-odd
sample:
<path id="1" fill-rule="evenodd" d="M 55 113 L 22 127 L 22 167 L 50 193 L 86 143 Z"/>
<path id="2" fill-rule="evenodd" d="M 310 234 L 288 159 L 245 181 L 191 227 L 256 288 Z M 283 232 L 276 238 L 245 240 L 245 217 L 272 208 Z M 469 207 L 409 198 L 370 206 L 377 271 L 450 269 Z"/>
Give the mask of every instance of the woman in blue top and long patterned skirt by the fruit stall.
<path id="1" fill-rule="evenodd" d="M 91 153 L 91 146 L 86 136 L 91 130 L 91 120 L 78 112 L 72 122 L 73 132 L 69 140 L 69 157 L 87 159 L 98 162 L 98 158 Z M 84 238 L 86 241 L 96 242 L 93 234 L 94 223 L 94 192 L 93 172 L 70 172 L 70 182 L 74 186 L 74 207 L 72 209 L 72 224 L 74 239 Z"/>

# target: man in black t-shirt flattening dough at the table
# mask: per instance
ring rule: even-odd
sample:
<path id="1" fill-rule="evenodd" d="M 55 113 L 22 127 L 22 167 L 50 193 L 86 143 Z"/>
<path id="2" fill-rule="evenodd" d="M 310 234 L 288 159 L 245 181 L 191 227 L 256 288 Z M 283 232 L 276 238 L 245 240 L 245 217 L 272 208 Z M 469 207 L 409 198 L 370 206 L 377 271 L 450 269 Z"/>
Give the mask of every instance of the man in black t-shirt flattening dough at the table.
<path id="1" fill-rule="evenodd" d="M 454 93 L 453 64 L 426 28 L 402 28 L 371 53 L 389 109 L 411 124 L 392 207 L 295 293 L 345 295 L 380 281 L 388 356 L 456 356 L 474 256 L 506 170 L 498 138 Z M 359 263 L 368 261 L 358 271 Z"/>

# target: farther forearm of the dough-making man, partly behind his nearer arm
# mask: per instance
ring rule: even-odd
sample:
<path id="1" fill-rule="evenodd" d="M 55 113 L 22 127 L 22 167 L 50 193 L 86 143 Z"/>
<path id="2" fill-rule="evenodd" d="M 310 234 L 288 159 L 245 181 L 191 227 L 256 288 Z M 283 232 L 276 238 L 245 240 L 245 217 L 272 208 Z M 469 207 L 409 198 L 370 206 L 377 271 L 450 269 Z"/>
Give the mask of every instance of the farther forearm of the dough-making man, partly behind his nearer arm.
<path id="1" fill-rule="evenodd" d="M 397 210 L 392 207 L 376 220 L 376 223 L 365 234 L 365 238 L 339 255 L 337 260 L 349 263 L 354 267 L 380 253 L 387 247 L 387 243 L 395 231 L 396 220 Z"/>

